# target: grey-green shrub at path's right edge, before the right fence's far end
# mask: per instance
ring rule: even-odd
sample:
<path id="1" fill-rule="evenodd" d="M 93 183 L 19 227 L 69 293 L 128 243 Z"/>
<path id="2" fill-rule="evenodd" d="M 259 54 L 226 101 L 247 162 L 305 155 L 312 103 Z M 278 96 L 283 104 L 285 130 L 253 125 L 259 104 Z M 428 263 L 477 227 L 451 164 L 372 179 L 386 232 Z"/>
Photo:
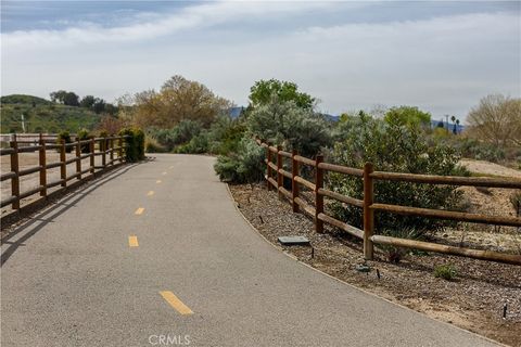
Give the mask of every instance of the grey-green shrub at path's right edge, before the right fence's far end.
<path id="1" fill-rule="evenodd" d="M 239 142 L 237 152 L 219 155 L 214 166 L 219 179 L 226 182 L 245 183 L 264 178 L 264 151 L 250 136 Z"/>

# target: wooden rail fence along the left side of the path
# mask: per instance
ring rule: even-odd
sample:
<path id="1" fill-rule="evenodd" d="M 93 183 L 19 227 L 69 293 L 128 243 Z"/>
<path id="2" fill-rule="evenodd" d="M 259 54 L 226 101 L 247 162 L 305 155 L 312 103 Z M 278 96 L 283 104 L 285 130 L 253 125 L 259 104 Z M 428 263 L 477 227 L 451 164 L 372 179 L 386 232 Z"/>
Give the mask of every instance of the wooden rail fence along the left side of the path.
<path id="1" fill-rule="evenodd" d="M 11 170 L 4 172 L 0 177 L 0 181 L 11 180 L 11 196 L 4 198 L 2 196 L 0 207 L 11 205 L 13 210 L 20 210 L 21 201 L 34 194 L 39 194 L 42 197 L 48 196 L 48 190 L 50 188 L 61 185 L 60 190 L 63 190 L 69 185 L 71 180 L 85 181 L 93 177 L 94 174 L 104 171 L 116 164 L 125 162 L 125 149 L 124 142 L 126 137 L 112 137 L 112 138 L 96 138 L 89 140 L 76 140 L 72 143 L 51 143 L 40 138 L 38 145 L 18 146 L 20 141 L 16 141 L 14 137 L 10 141 L 10 146 L 7 149 L 0 149 L 0 155 L 9 155 L 11 158 Z M 117 141 L 117 146 L 114 145 Z M 96 144 L 98 144 L 99 151 L 96 151 Z M 67 159 L 67 149 L 71 149 L 71 153 L 74 157 Z M 82 151 L 85 149 L 86 151 Z M 88 150 L 87 150 L 88 149 Z M 55 163 L 47 163 L 47 151 L 55 150 L 60 154 L 60 160 Z M 20 169 L 20 154 L 21 153 L 34 153 L 38 152 L 38 165 L 29 168 Z M 89 153 L 82 153 L 89 152 Z M 106 155 L 109 154 L 109 160 Z M 96 156 L 102 156 L 102 165 L 94 166 Z M 81 160 L 89 158 L 90 165 L 82 168 Z M 76 163 L 74 172 L 67 174 L 67 165 Z M 60 168 L 60 179 L 48 182 L 48 170 L 52 168 Z M 97 171 L 98 170 L 98 171 Z M 39 183 L 37 188 L 29 191 L 20 191 L 20 178 L 39 172 Z"/>

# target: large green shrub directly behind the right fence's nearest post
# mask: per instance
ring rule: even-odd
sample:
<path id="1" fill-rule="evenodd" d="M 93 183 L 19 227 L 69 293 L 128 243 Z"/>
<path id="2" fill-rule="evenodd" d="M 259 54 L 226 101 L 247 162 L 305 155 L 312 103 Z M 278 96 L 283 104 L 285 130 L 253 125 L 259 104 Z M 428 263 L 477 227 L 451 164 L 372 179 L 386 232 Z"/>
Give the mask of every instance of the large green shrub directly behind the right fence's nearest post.
<path id="1" fill-rule="evenodd" d="M 429 146 L 423 132 L 417 129 L 387 124 L 360 114 L 353 125 L 338 134 L 330 162 L 363 168 L 370 162 L 374 170 L 430 175 L 468 175 L 457 163 L 458 155 L 449 146 Z M 364 183 L 360 178 L 329 174 L 327 184 L 333 191 L 363 200 Z M 453 187 L 409 182 L 376 181 L 374 196 L 379 203 L 435 209 L 458 209 L 460 193 Z M 350 224 L 363 227 L 360 208 L 332 203 L 334 216 Z M 374 219 L 377 232 L 383 230 L 410 230 L 428 232 L 446 226 L 447 221 L 432 218 L 399 216 L 378 211 Z"/>

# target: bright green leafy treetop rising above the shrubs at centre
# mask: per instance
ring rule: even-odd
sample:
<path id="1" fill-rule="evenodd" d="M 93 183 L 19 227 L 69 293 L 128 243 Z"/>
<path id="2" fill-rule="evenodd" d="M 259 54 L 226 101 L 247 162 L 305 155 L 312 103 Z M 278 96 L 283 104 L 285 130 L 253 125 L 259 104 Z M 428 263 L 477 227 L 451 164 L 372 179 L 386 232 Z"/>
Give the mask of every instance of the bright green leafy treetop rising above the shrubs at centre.
<path id="1" fill-rule="evenodd" d="M 278 79 L 258 80 L 250 89 L 250 102 L 254 107 L 271 102 L 271 95 L 276 94 L 280 102 L 292 101 L 297 107 L 310 110 L 316 99 L 309 94 L 300 92 L 294 82 L 280 81 Z"/>

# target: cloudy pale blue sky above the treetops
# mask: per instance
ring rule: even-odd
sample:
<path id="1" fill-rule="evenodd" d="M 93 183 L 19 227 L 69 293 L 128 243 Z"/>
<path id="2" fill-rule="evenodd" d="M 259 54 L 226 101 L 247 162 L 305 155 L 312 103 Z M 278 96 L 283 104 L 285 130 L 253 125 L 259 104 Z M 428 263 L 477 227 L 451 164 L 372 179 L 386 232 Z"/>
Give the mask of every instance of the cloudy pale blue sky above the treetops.
<path id="1" fill-rule="evenodd" d="M 238 105 L 295 81 L 331 114 L 417 105 L 465 118 L 521 95 L 521 2 L 1 1 L 1 93 L 107 101 L 173 75 Z"/>

